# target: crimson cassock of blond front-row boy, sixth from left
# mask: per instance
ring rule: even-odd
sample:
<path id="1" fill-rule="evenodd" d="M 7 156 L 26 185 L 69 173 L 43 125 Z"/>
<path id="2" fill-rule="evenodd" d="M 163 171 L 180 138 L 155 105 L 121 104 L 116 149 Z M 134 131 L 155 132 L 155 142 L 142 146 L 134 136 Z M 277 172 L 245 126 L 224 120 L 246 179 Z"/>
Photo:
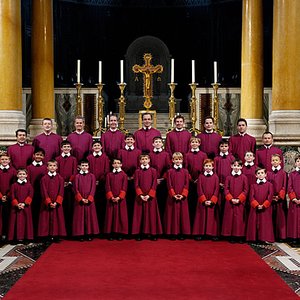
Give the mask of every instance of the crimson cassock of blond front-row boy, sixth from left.
<path id="1" fill-rule="evenodd" d="M 167 172 L 169 195 L 164 214 L 165 234 L 190 234 L 190 216 L 188 205 L 189 173 L 187 169 L 170 169 Z M 175 195 L 183 195 L 182 200 L 175 200 Z"/>

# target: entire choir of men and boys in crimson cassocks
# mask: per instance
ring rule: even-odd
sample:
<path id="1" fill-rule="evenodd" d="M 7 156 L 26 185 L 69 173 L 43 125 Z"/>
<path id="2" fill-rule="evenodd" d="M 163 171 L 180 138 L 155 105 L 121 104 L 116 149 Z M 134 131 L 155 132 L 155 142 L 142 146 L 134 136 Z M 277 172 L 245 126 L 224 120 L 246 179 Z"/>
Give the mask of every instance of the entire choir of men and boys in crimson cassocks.
<path id="1" fill-rule="evenodd" d="M 288 176 L 271 132 L 256 150 L 245 119 L 224 140 L 212 117 L 195 137 L 177 115 L 164 147 L 151 114 L 142 121 L 141 129 L 124 135 L 110 115 L 109 129 L 93 140 L 78 116 L 63 141 L 46 118 L 32 145 L 27 132 L 17 130 L 17 143 L 0 156 L 2 240 L 91 240 L 100 233 L 109 240 L 297 243 L 300 157 Z"/>

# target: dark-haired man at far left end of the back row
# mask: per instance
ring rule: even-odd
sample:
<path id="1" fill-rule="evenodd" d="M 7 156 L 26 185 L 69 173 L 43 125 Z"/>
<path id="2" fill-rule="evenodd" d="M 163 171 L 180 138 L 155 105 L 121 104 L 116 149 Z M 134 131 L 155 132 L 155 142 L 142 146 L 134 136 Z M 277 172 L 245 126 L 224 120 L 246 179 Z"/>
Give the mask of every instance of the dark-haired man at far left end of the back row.
<path id="1" fill-rule="evenodd" d="M 26 143 L 27 131 L 25 129 L 18 129 L 16 137 L 17 143 L 8 147 L 7 154 L 16 170 L 25 169 L 32 161 L 34 147 Z"/>

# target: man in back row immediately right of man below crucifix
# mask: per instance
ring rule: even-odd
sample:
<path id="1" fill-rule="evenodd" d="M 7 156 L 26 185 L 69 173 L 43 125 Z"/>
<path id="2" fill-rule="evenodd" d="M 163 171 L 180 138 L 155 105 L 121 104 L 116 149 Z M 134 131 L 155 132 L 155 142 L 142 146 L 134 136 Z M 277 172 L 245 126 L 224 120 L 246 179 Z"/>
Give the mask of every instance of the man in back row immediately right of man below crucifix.
<path id="1" fill-rule="evenodd" d="M 190 138 L 192 134 L 184 129 L 184 117 L 177 115 L 174 118 L 175 128 L 170 131 L 166 137 L 166 151 L 172 155 L 175 152 L 180 152 L 184 156 L 190 149 Z"/>

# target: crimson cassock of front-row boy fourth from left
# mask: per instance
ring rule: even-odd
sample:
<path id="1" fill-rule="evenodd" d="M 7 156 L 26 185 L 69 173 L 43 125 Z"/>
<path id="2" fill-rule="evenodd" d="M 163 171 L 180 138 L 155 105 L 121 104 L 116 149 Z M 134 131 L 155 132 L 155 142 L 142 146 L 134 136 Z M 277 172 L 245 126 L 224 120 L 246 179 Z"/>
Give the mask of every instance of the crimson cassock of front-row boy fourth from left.
<path id="1" fill-rule="evenodd" d="M 108 173 L 106 177 L 106 214 L 105 233 L 128 234 L 128 216 L 126 205 L 127 175 L 125 172 Z M 120 197 L 118 203 L 112 202 L 112 197 Z"/>

